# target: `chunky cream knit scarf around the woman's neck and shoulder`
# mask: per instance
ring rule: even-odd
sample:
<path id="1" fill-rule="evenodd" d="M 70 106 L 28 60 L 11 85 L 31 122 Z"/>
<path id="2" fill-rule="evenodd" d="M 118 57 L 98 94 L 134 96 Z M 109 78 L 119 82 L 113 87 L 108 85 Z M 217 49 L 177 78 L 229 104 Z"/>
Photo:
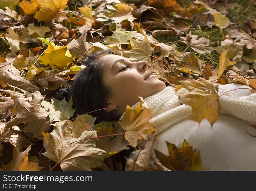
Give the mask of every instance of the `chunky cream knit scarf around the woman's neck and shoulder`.
<path id="1" fill-rule="evenodd" d="M 220 96 L 229 89 L 224 85 L 214 84 L 218 86 L 218 95 Z M 248 87 L 249 88 L 249 87 Z M 185 88 L 180 89 L 177 93 L 171 86 L 143 98 L 147 102 L 151 110 L 150 123 L 155 128 L 156 134 L 165 131 L 170 126 L 187 119 L 191 114 L 192 107 L 182 104 L 178 95 L 188 91 Z M 138 101 L 131 109 L 136 108 L 141 102 Z M 240 118 L 250 124 L 256 124 L 256 93 L 249 96 L 239 97 L 230 91 L 219 97 L 221 104 L 220 114 L 229 114 Z M 123 115 L 120 117 L 121 120 Z"/>

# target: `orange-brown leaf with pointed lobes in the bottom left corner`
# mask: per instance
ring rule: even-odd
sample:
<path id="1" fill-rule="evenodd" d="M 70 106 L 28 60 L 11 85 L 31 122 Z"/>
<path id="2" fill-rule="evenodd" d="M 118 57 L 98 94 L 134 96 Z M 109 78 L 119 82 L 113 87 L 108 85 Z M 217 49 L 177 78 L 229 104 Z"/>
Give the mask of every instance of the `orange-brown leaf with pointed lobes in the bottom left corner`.
<path id="1" fill-rule="evenodd" d="M 40 170 L 41 168 L 37 163 L 29 163 L 28 155 L 31 146 L 29 146 L 25 151 L 19 152 L 19 149 L 13 146 L 13 160 L 9 165 L 3 164 L 1 170 Z"/>

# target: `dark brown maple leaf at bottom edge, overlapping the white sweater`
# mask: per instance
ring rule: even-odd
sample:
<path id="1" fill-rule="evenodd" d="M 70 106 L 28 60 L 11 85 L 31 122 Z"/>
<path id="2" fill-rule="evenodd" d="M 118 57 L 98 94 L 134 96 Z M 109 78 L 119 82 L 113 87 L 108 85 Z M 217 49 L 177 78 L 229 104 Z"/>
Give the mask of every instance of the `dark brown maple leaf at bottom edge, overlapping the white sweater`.
<path id="1" fill-rule="evenodd" d="M 184 139 L 182 149 L 178 149 L 175 144 L 166 141 L 169 156 L 154 149 L 156 157 L 160 163 L 172 170 L 202 170 L 200 154 L 193 151 L 192 147 Z"/>

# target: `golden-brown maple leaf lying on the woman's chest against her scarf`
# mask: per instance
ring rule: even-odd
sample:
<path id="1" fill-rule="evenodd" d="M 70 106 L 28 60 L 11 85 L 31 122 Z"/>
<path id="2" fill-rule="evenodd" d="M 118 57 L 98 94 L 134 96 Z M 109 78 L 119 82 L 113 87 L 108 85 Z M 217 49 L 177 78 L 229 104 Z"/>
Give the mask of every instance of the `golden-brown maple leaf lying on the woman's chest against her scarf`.
<path id="1" fill-rule="evenodd" d="M 200 81 L 187 79 L 181 81 L 181 84 L 189 90 L 179 94 L 182 102 L 192 107 L 189 119 L 200 124 L 202 119 L 206 118 L 212 127 L 218 120 L 221 110 L 218 91 L 214 88 L 213 83 L 210 80 L 200 78 Z"/>

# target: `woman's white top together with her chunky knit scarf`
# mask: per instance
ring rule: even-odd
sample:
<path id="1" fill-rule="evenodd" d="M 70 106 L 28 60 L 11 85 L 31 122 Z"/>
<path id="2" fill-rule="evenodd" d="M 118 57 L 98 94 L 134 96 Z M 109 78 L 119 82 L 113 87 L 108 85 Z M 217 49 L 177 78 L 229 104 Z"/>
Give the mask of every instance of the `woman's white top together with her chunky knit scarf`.
<path id="1" fill-rule="evenodd" d="M 236 88 L 250 88 L 240 84 L 215 85 L 218 85 L 218 95 Z M 157 133 L 154 149 L 168 155 L 165 140 L 181 148 L 186 139 L 193 149 L 200 151 L 204 169 L 256 170 L 256 138 L 246 133 L 256 133 L 256 129 L 249 125 L 256 124 L 256 93 L 239 89 L 220 96 L 222 115 L 211 128 L 206 119 L 202 120 L 200 126 L 198 122 L 188 119 L 192 108 L 182 104 L 178 98 L 184 91 L 188 90 L 182 88 L 176 94 L 172 87 L 167 86 L 143 98 L 151 110 L 150 123 Z M 140 101 L 131 108 L 134 109 L 138 104 Z"/>

